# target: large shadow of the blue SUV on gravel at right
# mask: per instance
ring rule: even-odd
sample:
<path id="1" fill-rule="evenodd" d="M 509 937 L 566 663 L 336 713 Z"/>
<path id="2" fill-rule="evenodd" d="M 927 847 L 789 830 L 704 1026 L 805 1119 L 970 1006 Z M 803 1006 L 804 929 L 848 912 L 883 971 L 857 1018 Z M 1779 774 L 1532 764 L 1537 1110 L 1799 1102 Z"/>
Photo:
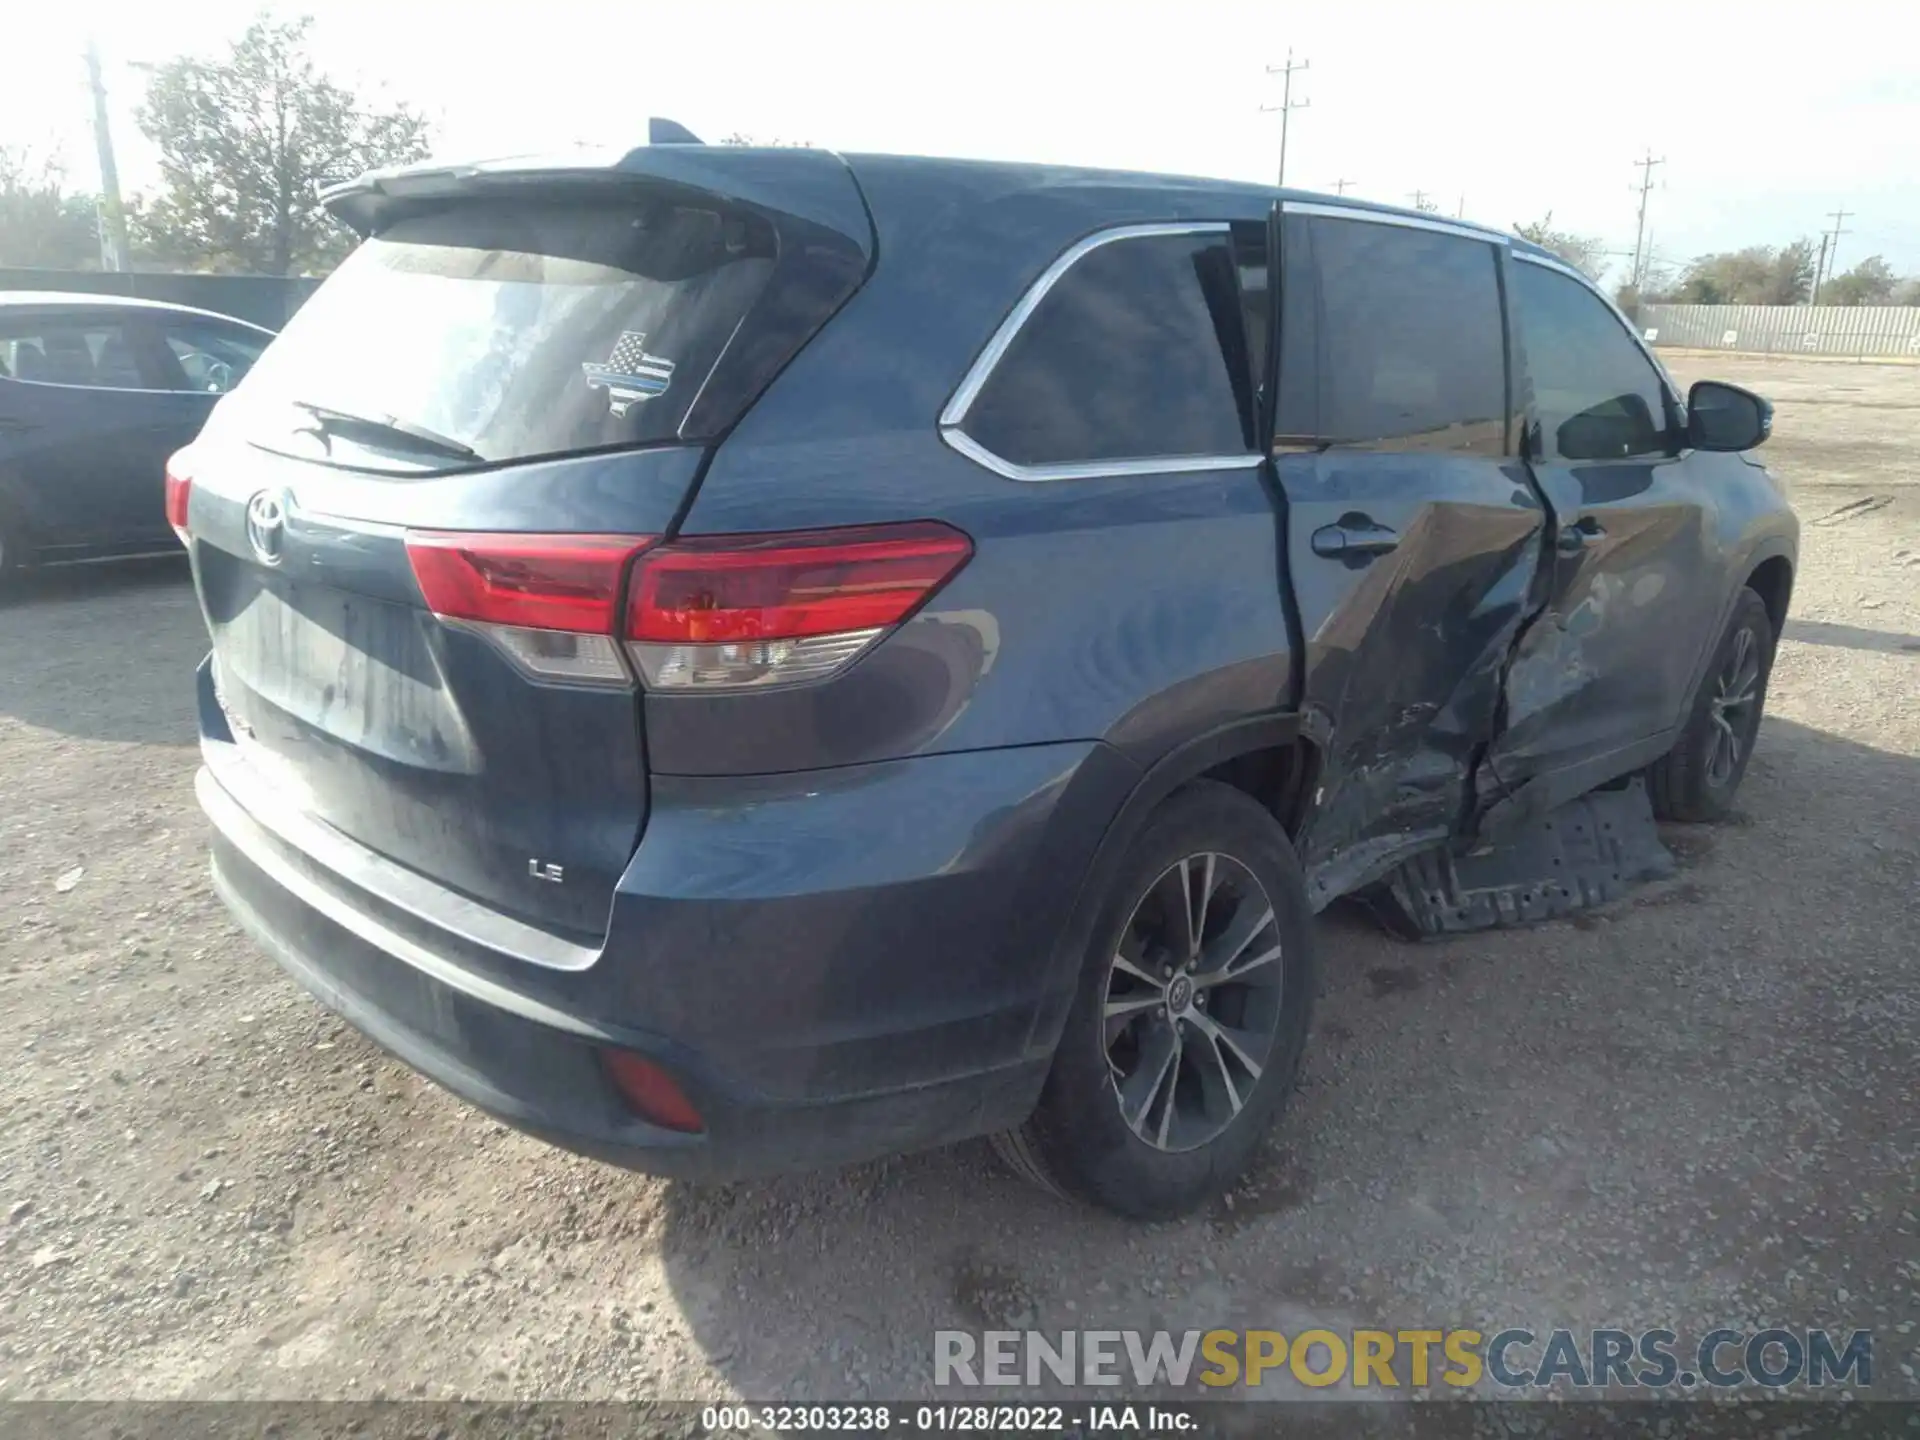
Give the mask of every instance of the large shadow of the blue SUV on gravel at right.
<path id="1" fill-rule="evenodd" d="M 1755 1206 L 1793 1233 L 1910 1204 L 1920 758 L 1768 720 L 1736 816 L 1665 833 L 1674 879 L 1565 922 L 1409 945 L 1323 916 L 1306 1071 L 1231 1202 L 1133 1225 L 983 1142 L 678 1183 L 687 1325 L 737 1394 L 822 1400 L 931 1398 L 941 1329 L 1640 1315 L 1645 1265 L 1663 1317 L 1718 1321 L 1726 1284 L 1786 1263 L 1755 1258 Z M 1884 1229 L 1820 1233 L 1828 1273 L 1889 1273 Z"/>

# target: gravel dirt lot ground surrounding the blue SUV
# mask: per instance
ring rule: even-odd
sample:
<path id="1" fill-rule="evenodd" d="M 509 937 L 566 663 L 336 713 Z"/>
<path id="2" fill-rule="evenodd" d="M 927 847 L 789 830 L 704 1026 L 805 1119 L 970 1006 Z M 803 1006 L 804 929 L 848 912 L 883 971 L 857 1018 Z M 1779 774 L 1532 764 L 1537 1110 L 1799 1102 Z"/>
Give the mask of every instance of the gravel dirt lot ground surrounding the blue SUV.
<path id="1" fill-rule="evenodd" d="M 1705 369 L 1676 359 L 1684 378 Z M 1603 916 L 1325 920 L 1300 1096 L 1139 1229 L 981 1146 L 703 1188 L 520 1139 L 244 941 L 177 566 L 0 603 L 0 1396 L 924 1394 L 937 1327 L 1872 1327 L 1920 1394 L 1920 367 L 1778 399 L 1805 572 L 1734 824 Z"/>

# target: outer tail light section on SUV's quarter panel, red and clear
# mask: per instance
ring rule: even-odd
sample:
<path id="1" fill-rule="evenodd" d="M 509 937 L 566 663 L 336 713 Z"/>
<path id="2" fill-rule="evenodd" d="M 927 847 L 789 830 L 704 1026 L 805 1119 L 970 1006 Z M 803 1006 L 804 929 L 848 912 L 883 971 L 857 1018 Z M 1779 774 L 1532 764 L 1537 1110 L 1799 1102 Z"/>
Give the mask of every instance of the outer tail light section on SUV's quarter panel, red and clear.
<path id="1" fill-rule="evenodd" d="M 653 689 L 751 689 L 843 670 L 945 586 L 973 543 L 933 522 L 695 536 L 628 588 L 628 653 Z"/>

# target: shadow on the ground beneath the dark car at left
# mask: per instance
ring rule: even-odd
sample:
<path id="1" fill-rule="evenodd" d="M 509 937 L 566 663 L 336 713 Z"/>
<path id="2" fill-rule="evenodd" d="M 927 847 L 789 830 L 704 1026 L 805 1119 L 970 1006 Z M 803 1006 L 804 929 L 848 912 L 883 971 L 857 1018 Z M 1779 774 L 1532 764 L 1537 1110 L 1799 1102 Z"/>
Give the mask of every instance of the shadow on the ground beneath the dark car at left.
<path id="1" fill-rule="evenodd" d="M 73 739 L 192 745 L 205 651 L 184 557 L 29 572 L 0 589 L 0 714 Z"/>

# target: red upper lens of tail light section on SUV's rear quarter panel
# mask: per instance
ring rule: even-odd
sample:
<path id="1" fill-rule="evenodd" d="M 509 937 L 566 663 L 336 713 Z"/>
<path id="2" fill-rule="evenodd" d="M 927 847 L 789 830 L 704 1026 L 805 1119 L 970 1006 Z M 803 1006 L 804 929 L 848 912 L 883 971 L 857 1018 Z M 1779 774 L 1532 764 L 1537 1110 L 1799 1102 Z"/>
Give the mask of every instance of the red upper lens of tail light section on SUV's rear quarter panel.
<path id="1" fill-rule="evenodd" d="M 676 540 L 634 572 L 628 639 L 705 645 L 899 624 L 966 564 L 945 524 Z"/>

